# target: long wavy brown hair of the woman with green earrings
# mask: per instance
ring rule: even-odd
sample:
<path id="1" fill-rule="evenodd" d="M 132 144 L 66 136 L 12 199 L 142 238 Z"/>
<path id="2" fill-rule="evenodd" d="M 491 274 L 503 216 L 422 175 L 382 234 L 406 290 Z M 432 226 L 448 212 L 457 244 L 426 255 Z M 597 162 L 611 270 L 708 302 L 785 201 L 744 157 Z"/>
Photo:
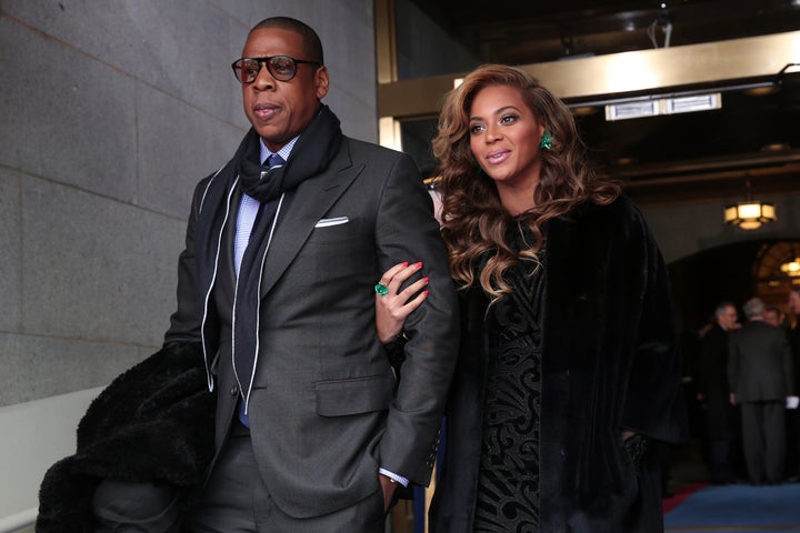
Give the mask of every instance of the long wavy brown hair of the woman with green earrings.
<path id="1" fill-rule="evenodd" d="M 470 149 L 472 101 L 482 89 L 496 86 L 517 89 L 552 134 L 552 148 L 539 150 L 542 165 L 533 192 L 536 207 L 518 217 L 502 207 L 494 182 L 478 165 Z M 530 74 L 502 64 L 479 67 L 446 95 L 433 154 L 440 163 L 437 190 L 442 200 L 442 237 L 452 275 L 461 289 L 471 286 L 478 275 L 492 303 L 511 292 L 503 279 L 509 266 L 519 261 L 538 261 L 546 247 L 547 221 L 579 203 L 608 204 L 620 194 L 619 185 L 599 178 L 587 160 L 586 145 L 569 108 Z M 509 229 L 521 229 L 520 224 L 527 224 L 536 240 L 517 253 L 507 239 Z M 483 260 L 486 265 L 478 273 Z"/>

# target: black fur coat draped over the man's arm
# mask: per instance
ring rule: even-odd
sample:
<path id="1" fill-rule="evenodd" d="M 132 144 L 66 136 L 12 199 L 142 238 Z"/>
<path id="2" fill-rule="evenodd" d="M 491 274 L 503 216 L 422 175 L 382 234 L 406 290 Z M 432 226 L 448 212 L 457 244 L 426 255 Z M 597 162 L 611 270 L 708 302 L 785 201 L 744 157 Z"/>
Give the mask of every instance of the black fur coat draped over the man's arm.
<path id="1" fill-rule="evenodd" d="M 77 452 L 39 491 L 37 533 L 94 531 L 92 495 L 106 477 L 200 485 L 213 454 L 216 394 L 199 343 L 173 343 L 117 378 L 78 425 Z"/>

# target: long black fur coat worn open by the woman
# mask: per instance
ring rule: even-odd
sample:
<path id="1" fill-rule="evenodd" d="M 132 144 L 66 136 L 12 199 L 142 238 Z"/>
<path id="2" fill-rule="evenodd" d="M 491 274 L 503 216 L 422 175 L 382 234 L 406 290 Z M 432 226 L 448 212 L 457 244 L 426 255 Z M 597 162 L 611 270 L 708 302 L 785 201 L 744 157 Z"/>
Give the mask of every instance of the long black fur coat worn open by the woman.
<path id="1" fill-rule="evenodd" d="M 662 531 L 658 457 L 621 433 L 679 442 L 681 374 L 667 269 L 626 199 L 584 203 L 546 228 L 539 506 L 542 533 Z M 431 531 L 472 531 L 481 454 L 486 293 L 461 300 L 461 353 Z"/>

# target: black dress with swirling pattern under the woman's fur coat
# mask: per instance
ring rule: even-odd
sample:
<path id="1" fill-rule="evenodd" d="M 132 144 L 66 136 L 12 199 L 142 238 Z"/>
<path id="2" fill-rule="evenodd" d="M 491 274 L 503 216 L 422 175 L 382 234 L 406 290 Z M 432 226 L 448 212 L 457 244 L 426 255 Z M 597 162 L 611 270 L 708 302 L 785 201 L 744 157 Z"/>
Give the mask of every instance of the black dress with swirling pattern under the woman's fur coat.
<path id="1" fill-rule="evenodd" d="M 531 245 L 529 231 L 514 228 L 514 250 Z M 496 302 L 487 316 L 490 362 L 476 532 L 539 532 L 543 278 L 543 263 L 521 261 L 509 269 L 506 281 L 513 292 Z"/>

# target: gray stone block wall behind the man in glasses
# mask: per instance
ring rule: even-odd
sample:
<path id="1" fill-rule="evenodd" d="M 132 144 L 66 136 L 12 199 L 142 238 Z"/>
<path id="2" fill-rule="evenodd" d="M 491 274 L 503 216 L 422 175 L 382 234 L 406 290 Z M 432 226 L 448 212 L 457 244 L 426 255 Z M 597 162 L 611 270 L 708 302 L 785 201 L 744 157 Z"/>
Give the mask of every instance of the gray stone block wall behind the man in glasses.
<path id="1" fill-rule="evenodd" d="M 0 406 L 161 344 L 193 185 L 248 127 L 230 63 L 276 14 L 319 32 L 326 103 L 376 141 L 371 0 L 0 1 Z"/>

